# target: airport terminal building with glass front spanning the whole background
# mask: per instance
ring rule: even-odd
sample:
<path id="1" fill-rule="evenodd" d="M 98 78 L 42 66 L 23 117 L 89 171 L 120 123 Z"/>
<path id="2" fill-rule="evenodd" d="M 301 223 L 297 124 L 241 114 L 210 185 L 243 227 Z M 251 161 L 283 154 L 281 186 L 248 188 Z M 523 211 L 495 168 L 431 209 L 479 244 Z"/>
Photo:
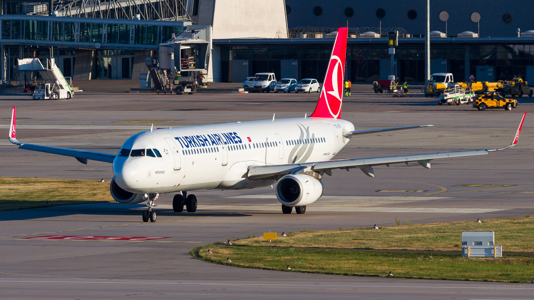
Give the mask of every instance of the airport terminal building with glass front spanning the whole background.
<path id="1" fill-rule="evenodd" d="M 238 83 L 260 72 L 322 81 L 333 43 L 328 34 L 341 26 L 349 27 L 346 74 L 352 82 L 390 75 L 389 30 L 399 31 L 397 77 L 425 77 L 426 1 L 1 2 L 3 84 L 23 80 L 17 58 L 48 57 L 51 46 L 65 76 L 137 80 L 146 58 L 160 58 L 160 43 L 195 28 L 205 30 L 209 42 L 208 81 Z M 431 5 L 431 73 L 450 72 L 456 81 L 474 75 L 477 81 L 521 76 L 534 82 L 534 18 L 522 7 L 493 0 L 484 7 L 456 0 Z"/>

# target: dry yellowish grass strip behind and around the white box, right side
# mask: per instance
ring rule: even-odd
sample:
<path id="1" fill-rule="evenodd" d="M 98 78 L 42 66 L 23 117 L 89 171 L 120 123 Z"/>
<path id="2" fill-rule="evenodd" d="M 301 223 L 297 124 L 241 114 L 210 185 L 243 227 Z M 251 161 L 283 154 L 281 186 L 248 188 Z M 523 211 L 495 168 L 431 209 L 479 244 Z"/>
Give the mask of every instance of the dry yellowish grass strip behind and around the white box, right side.
<path id="1" fill-rule="evenodd" d="M 482 220 L 482 223 L 400 225 L 378 230 L 303 230 L 278 236 L 271 243 L 264 241 L 263 236 L 232 243 L 238 246 L 461 251 L 462 231 L 494 231 L 495 244 L 502 245 L 504 252 L 534 252 L 534 218 L 531 217 Z"/>

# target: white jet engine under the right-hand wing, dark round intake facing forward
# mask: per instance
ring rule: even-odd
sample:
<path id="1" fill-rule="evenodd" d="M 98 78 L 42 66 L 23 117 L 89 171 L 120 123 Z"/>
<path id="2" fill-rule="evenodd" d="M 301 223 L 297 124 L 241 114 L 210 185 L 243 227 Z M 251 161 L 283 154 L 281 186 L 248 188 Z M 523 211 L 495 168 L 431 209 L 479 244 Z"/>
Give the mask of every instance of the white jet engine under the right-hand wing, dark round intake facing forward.
<path id="1" fill-rule="evenodd" d="M 325 186 L 320 180 L 305 174 L 286 175 L 276 184 L 278 201 L 287 206 L 305 206 L 323 195 Z"/>

